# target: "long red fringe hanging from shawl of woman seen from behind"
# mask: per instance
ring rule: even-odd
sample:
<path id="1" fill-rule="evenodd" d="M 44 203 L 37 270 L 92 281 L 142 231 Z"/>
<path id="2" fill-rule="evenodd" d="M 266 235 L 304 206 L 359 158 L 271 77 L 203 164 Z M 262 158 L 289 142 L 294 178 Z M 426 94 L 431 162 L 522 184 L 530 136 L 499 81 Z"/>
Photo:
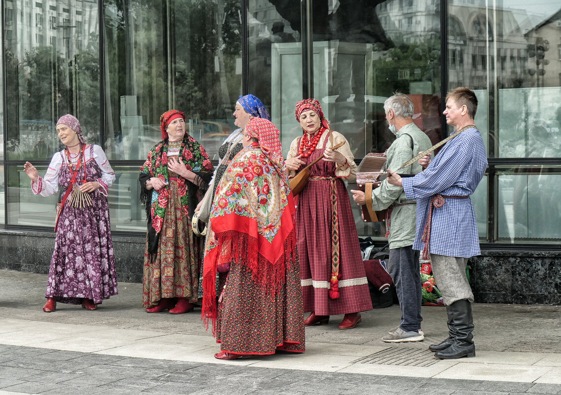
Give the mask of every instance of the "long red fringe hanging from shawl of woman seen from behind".
<path id="1" fill-rule="evenodd" d="M 257 240 L 247 233 L 228 231 L 218 235 L 218 247 L 212 251 L 213 270 L 203 277 L 203 309 L 201 318 L 206 330 L 209 321 L 212 322 L 212 334 L 216 337 L 216 320 L 218 316 L 218 302 L 216 295 L 217 265 L 222 263 L 237 263 L 244 265 L 251 271 L 251 277 L 261 289 L 278 290 L 284 285 L 285 272 L 291 264 L 297 264 L 295 231 L 292 229 L 284 240 L 284 252 L 280 258 L 271 263 L 259 253 Z M 270 293 L 274 297 L 275 292 Z"/>

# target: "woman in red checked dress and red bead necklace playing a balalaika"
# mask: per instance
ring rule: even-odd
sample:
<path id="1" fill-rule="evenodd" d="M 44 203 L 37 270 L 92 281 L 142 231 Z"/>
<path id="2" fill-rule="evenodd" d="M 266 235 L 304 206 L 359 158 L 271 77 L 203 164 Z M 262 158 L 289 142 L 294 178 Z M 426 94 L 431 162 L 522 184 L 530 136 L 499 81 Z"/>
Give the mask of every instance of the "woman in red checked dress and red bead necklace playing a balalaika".
<path id="1" fill-rule="evenodd" d="M 360 311 L 372 309 L 355 219 L 343 182 L 355 180 L 355 158 L 345 137 L 329 130 L 318 100 L 298 102 L 296 120 L 304 134 L 290 146 L 286 160 L 289 177 L 325 155 L 311 167 L 296 210 L 304 311 L 311 311 L 304 323 L 327 324 L 330 315 L 344 314 L 339 329 L 351 329 L 361 322 Z M 330 149 L 340 143 L 344 143 L 341 148 Z"/>

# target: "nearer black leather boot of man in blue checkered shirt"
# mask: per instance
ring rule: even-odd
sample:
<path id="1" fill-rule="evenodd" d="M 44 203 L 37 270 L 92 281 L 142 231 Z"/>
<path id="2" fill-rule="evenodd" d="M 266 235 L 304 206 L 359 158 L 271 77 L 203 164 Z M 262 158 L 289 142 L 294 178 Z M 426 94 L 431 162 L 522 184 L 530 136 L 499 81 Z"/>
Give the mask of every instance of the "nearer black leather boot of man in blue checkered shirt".
<path id="1" fill-rule="evenodd" d="M 434 356 L 440 359 L 475 357 L 471 303 L 466 299 L 462 299 L 457 300 L 450 307 L 452 307 L 452 320 L 456 337 L 450 347 L 442 351 L 436 351 Z"/>

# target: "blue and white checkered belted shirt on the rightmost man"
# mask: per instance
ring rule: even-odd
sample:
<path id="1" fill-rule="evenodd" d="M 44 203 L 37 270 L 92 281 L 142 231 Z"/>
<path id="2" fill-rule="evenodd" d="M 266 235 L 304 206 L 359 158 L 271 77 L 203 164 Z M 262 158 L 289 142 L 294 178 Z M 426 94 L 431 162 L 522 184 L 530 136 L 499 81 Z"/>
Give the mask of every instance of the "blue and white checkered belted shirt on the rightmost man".
<path id="1" fill-rule="evenodd" d="M 407 199 L 417 200 L 417 226 L 413 249 L 422 250 L 421 240 L 434 195 L 470 196 L 483 178 L 487 154 L 476 127 L 461 132 L 446 143 L 424 172 L 403 178 Z M 447 199 L 433 208 L 430 233 L 431 254 L 470 258 L 481 254 L 477 223 L 471 199 Z"/>

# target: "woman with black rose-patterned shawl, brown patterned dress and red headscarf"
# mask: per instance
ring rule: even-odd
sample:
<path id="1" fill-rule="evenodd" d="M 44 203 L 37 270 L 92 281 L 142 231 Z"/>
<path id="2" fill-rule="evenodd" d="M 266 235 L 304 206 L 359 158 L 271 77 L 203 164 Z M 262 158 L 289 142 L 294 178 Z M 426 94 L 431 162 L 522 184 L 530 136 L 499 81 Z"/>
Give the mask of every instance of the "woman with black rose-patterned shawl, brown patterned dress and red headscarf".
<path id="1" fill-rule="evenodd" d="M 142 304 L 148 313 L 181 314 L 197 301 L 203 240 L 194 235 L 191 218 L 213 166 L 187 134 L 181 111 L 162 114 L 160 130 L 162 141 L 148 153 L 139 176 L 148 219 Z"/>

